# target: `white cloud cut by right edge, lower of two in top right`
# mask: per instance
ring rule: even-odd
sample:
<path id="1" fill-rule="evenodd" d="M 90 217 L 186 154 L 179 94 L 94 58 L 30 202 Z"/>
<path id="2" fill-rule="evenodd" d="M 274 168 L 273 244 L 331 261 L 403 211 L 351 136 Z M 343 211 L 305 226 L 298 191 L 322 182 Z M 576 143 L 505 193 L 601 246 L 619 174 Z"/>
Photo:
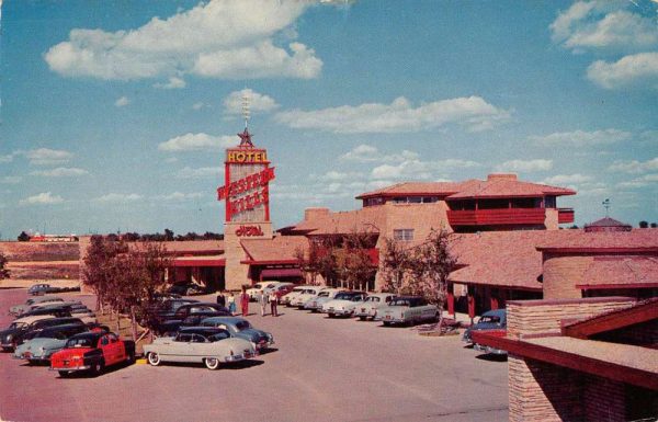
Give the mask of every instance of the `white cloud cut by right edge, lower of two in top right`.
<path id="1" fill-rule="evenodd" d="M 609 90 L 627 85 L 658 90 L 658 53 L 639 53 L 615 62 L 597 60 L 587 68 L 587 77 Z"/>

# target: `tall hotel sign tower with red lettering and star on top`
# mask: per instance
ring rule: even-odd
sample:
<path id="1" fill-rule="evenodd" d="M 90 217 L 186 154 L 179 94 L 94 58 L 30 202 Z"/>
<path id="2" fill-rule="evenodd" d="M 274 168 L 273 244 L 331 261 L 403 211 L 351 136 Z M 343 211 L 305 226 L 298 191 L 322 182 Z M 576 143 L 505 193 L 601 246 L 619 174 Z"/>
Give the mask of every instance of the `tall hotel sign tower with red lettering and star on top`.
<path id="1" fill-rule="evenodd" d="M 268 151 L 256 148 L 248 129 L 249 102 L 242 98 L 245 132 L 238 134 L 240 145 L 226 149 L 224 186 L 217 189 L 217 199 L 226 201 L 224 248 L 226 256 L 226 288 L 238 289 L 249 284 L 249 265 L 240 242 L 245 239 L 271 239 L 270 181 L 274 168 Z"/>

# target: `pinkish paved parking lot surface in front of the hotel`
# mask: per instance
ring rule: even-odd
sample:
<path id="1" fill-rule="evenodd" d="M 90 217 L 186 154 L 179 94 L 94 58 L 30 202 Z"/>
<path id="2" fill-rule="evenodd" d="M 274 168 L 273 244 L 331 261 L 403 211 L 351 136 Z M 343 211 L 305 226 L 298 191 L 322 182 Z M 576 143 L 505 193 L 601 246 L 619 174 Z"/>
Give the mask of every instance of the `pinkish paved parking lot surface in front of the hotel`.
<path id="1" fill-rule="evenodd" d="M 0 290 L 0 326 L 25 289 Z M 66 294 L 78 297 L 76 294 Z M 79 296 L 90 307 L 91 296 Z M 213 297 L 214 298 L 214 297 Z M 329 319 L 293 308 L 248 319 L 275 350 L 242 365 L 135 364 L 59 378 L 0 354 L 4 421 L 507 421 L 507 362 L 478 358 L 458 337 Z"/>

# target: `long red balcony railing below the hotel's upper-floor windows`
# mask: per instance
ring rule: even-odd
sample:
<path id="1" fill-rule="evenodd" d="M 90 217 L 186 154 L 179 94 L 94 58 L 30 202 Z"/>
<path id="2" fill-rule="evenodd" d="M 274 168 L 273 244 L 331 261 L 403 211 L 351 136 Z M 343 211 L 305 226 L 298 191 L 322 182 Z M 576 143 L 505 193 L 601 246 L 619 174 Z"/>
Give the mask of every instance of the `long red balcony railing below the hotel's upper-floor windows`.
<path id="1" fill-rule="evenodd" d="M 546 219 L 544 208 L 500 208 L 449 210 L 451 226 L 489 225 L 543 225 Z"/>

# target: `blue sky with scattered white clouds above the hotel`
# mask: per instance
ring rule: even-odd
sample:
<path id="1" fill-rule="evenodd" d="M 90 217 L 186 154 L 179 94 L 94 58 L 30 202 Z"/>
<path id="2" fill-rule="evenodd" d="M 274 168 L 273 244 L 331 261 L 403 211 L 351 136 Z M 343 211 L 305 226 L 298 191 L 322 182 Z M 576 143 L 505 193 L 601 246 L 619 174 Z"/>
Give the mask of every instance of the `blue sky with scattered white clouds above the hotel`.
<path id="1" fill-rule="evenodd" d="M 0 236 L 222 231 L 224 149 L 276 228 L 400 181 L 569 186 L 658 221 L 658 3 L 4 0 Z"/>

